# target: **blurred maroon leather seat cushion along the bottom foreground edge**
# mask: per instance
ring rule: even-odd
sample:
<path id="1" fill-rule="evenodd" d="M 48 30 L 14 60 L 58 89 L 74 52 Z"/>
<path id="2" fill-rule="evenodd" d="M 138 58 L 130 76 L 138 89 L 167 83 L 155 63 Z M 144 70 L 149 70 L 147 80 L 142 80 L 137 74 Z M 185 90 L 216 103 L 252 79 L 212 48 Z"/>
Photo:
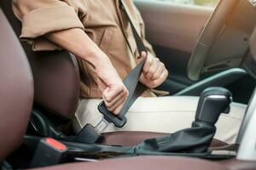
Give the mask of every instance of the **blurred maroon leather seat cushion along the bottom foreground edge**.
<path id="1" fill-rule="evenodd" d="M 62 166 L 38 168 L 42 170 L 104 169 L 104 170 L 226 170 L 224 165 L 199 159 L 171 156 L 140 156 L 91 163 L 71 163 Z"/>

